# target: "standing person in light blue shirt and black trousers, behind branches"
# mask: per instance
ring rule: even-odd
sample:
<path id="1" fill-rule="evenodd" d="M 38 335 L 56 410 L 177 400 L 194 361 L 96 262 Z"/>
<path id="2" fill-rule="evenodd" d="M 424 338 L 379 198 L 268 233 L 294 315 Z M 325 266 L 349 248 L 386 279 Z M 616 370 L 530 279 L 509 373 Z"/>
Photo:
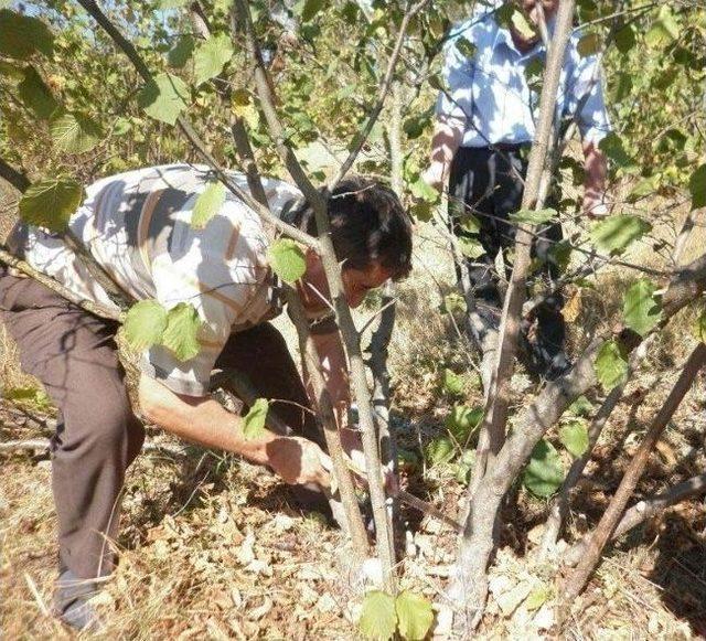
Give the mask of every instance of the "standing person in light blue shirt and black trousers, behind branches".
<path id="1" fill-rule="evenodd" d="M 550 36 L 558 0 L 517 4 L 528 21 L 511 20 L 503 26 L 499 8 L 491 6 L 450 33 L 442 72 L 446 89 L 437 102 L 430 165 L 425 172 L 427 182 L 437 189 L 448 181 L 457 235 L 469 233 L 468 214 L 478 221 L 484 254 L 470 261 L 469 271 L 481 312 L 495 323 L 502 308 L 495 258 L 514 243 L 507 215 L 522 202 L 527 150 L 538 116 L 539 95 L 532 86 L 532 75 L 541 74 L 546 61 L 539 28 L 546 28 Z M 610 122 L 599 61 L 596 55 L 580 55 L 579 38 L 574 33 L 567 47 L 556 121 L 573 119 L 578 126 L 586 174 L 582 211 L 587 216 L 601 216 L 607 213 L 607 163 L 599 142 L 610 131 Z M 561 227 L 555 223 L 539 229 L 535 242 L 541 276 L 549 281 L 559 274 L 552 249 L 561 237 Z M 532 368 L 548 378 L 568 368 L 561 306 L 560 295 L 546 297 L 534 317 L 536 339 L 525 344 Z"/>

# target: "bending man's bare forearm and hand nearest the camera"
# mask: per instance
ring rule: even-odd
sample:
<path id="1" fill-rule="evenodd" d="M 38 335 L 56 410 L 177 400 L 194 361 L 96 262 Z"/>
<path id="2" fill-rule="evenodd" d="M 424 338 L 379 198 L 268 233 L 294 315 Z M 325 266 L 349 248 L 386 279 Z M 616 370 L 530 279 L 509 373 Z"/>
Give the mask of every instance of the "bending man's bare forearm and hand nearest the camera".
<path id="1" fill-rule="evenodd" d="M 210 396 L 175 394 L 147 374 L 140 376 L 138 396 L 145 417 L 180 438 L 269 466 L 287 483 L 329 485 L 329 457 L 312 441 L 269 430 L 260 438 L 245 439 L 243 419 Z"/>

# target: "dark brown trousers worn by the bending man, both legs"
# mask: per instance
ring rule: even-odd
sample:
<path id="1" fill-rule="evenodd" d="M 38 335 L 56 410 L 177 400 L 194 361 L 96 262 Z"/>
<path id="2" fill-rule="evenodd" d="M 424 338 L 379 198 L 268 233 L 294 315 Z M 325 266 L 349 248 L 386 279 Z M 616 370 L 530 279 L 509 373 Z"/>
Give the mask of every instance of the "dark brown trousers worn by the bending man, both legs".
<path id="1" fill-rule="evenodd" d="M 145 428 L 132 413 L 117 356 L 117 323 L 74 307 L 30 278 L 0 267 L 0 320 L 20 348 L 21 364 L 44 384 L 60 410 L 52 438 L 52 489 L 58 517 L 60 568 L 78 578 L 109 574 L 125 471 Z M 269 323 L 238 333 L 218 367 L 249 376 L 297 432 L 321 442 L 309 402 L 281 334 Z M 298 404 L 298 405 L 296 405 Z"/>

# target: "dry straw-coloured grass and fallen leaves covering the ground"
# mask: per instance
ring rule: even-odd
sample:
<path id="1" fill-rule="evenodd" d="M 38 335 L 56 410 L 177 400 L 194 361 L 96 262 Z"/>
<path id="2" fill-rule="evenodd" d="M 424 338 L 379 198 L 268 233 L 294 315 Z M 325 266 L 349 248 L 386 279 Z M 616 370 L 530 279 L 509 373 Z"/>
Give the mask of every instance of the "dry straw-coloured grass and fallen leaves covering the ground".
<path id="1" fill-rule="evenodd" d="M 443 431 L 452 400 L 439 394 L 439 371 L 463 371 L 473 363 L 468 345 L 438 312 L 453 282 L 441 239 L 430 226 L 419 229 L 419 238 L 415 274 L 397 290 L 398 324 L 389 363 L 395 420 L 408 449 Z M 705 238 L 699 229 L 688 254 L 703 247 Z M 648 261 L 654 256 L 643 246 L 630 259 Z M 605 328 L 616 318 L 620 307 L 616 301 L 630 277 L 631 273 L 611 269 L 601 276 L 599 290 L 585 291 L 571 329 L 575 353 L 586 344 L 587 328 Z M 363 310 L 357 318 L 368 313 Z M 639 436 L 676 376 L 676 367 L 693 344 L 687 331 L 689 314 L 693 312 L 672 322 L 611 420 L 589 468 L 597 482 L 587 484 L 577 496 L 569 536 L 579 536 L 605 508 Z M 281 321 L 280 327 L 286 324 Z M 0 382 L 6 389 L 33 384 L 20 372 L 12 341 L 2 329 Z M 515 406 L 526 404 L 532 393 L 521 392 L 523 385 L 516 386 Z M 702 382 L 676 414 L 640 492 L 660 491 L 677 478 L 703 470 L 703 387 Z M 480 391 L 471 385 L 464 402 L 480 399 Z M 28 429 L 1 429 L 0 435 L 3 439 L 46 436 Z M 6 457 L 0 464 L 0 629 L 9 639 L 73 637 L 45 613 L 55 577 L 49 462 L 21 455 Z M 410 483 L 428 492 L 449 514 L 462 494 L 452 472 L 443 467 L 425 474 L 413 471 Z M 546 634 L 537 620 L 539 612 L 546 620 L 552 603 L 548 579 L 554 568 L 535 565 L 531 555 L 537 534 L 533 527 L 542 522 L 545 504 L 521 494 L 517 506 L 511 509 L 515 512 L 506 520 L 504 547 L 492 570 L 495 585 L 505 588 L 498 597 L 523 583 L 538 581 L 547 585 L 547 602 L 532 611 L 521 605 L 507 613 L 499 598 L 491 597 L 482 638 Z M 454 536 L 436 522 L 419 524 L 417 514 L 407 516 L 415 530 L 409 541 L 415 556 L 402 564 L 403 587 L 439 601 L 453 559 Z M 705 527 L 703 506 L 689 502 L 625 537 L 581 597 L 566 637 L 681 639 L 703 634 Z M 349 620 L 355 618 L 355 603 L 336 580 L 338 560 L 345 555 L 340 533 L 293 510 L 271 474 L 231 457 L 199 449 L 183 460 L 140 457 L 128 473 L 122 530 L 116 544 L 121 563 L 99 597 L 106 630 L 98 638 L 355 638 Z"/>

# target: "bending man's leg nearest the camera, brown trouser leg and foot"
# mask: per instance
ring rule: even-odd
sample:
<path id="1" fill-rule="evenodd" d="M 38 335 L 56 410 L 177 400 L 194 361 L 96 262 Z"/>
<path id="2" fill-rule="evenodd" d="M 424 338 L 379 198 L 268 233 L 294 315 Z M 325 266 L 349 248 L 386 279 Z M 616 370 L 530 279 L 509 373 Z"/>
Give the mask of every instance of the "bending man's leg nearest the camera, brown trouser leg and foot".
<path id="1" fill-rule="evenodd" d="M 52 438 L 52 489 L 58 517 L 57 609 L 74 626 L 116 557 L 125 471 L 145 438 L 132 414 L 114 341 L 116 325 L 72 306 L 26 278 L 0 275 L 0 316 L 25 372 L 44 384 L 60 410 Z"/>

